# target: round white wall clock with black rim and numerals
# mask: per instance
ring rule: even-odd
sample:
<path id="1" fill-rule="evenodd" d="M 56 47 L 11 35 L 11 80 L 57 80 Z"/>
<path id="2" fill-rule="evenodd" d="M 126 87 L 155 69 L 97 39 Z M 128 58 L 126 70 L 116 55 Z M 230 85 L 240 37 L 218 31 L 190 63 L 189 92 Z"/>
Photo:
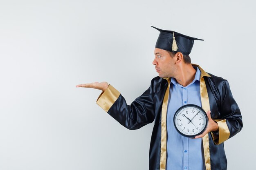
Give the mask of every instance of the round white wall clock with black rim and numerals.
<path id="1" fill-rule="evenodd" d="M 194 104 L 180 107 L 173 117 L 177 131 L 185 137 L 195 137 L 207 128 L 208 117 L 205 111 Z"/>

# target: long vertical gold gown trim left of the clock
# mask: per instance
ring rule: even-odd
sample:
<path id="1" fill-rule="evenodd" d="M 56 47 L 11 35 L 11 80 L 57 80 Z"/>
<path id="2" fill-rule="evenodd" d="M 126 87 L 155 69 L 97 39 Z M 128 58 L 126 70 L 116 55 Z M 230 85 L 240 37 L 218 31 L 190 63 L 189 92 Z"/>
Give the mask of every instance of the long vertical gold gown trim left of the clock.
<path id="1" fill-rule="evenodd" d="M 166 169 L 166 146 L 167 146 L 167 130 L 166 130 L 166 115 L 167 115 L 167 106 L 169 99 L 170 91 L 170 82 L 171 78 L 166 79 L 168 81 L 168 87 L 164 94 L 164 101 L 162 104 L 162 117 L 161 117 L 161 153 L 160 153 L 160 170 Z"/>

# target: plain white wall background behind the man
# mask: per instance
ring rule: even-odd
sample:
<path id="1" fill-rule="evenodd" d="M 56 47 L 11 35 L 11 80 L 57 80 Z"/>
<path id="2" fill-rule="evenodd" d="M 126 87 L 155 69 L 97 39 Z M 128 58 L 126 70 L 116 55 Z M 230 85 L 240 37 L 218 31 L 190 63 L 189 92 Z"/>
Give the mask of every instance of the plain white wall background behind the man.
<path id="1" fill-rule="evenodd" d="M 228 169 L 253 169 L 255 17 L 252 0 L 0 0 L 0 170 L 147 170 L 153 124 L 128 130 L 75 86 L 107 81 L 130 104 L 158 75 L 150 25 L 205 40 L 192 63 L 243 115 Z"/>

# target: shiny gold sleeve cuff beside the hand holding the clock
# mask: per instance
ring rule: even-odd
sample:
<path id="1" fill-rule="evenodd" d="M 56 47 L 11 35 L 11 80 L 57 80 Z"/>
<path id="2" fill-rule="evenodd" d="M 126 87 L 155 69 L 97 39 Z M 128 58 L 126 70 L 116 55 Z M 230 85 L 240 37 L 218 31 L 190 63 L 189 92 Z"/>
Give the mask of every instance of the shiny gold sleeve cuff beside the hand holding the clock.
<path id="1" fill-rule="evenodd" d="M 214 121 L 216 121 L 219 126 L 219 135 L 213 134 L 211 132 L 211 136 L 213 137 L 214 143 L 216 145 L 219 145 L 222 142 L 229 139 L 230 131 L 229 131 L 229 128 L 227 127 L 226 119 L 216 119 Z"/>

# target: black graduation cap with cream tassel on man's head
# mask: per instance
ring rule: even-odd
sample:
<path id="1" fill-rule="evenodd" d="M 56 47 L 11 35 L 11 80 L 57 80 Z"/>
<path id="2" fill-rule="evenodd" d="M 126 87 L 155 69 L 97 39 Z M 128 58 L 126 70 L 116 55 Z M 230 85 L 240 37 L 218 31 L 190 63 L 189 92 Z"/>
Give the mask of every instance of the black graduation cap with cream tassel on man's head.
<path id="1" fill-rule="evenodd" d="M 191 53 L 194 40 L 201 40 L 198 38 L 189 37 L 175 31 L 168 31 L 153 28 L 160 31 L 155 48 L 171 51 L 173 53 L 181 52 L 183 55 L 189 55 Z"/>

